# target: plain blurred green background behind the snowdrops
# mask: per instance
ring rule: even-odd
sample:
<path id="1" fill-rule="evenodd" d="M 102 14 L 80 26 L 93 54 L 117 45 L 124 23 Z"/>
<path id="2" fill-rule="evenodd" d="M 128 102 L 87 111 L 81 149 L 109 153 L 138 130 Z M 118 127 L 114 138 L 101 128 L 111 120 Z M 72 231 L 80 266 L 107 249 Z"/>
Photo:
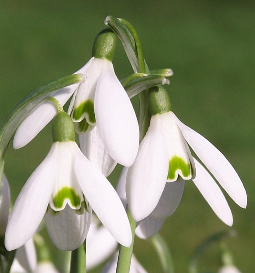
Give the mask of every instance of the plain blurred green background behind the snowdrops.
<path id="1" fill-rule="evenodd" d="M 187 272 L 190 254 L 207 236 L 230 229 L 237 231 L 236 238 L 226 241 L 237 267 L 242 272 L 255 270 L 253 3 L 209 0 L 0 3 L 1 122 L 32 90 L 72 74 L 87 62 L 107 15 L 123 17 L 134 25 L 151 69 L 173 69 L 174 76 L 167 86 L 173 111 L 222 151 L 248 194 L 246 210 L 225 194 L 234 217 L 230 228 L 213 213 L 194 184 L 186 183 L 180 206 L 160 231 L 169 244 L 176 272 Z M 114 66 L 120 79 L 132 73 L 120 43 Z M 47 126 L 21 150 L 9 148 L 5 173 L 13 202 L 47 154 L 50 131 L 51 126 Z M 110 178 L 115 184 L 117 176 Z M 62 271 L 62 253 L 54 247 L 51 251 Z M 147 241 L 136 239 L 134 252 L 148 272 L 161 271 L 156 253 Z M 215 245 L 202 256 L 199 269 L 216 272 L 218 266 Z M 100 268 L 93 272 L 100 272 Z"/>

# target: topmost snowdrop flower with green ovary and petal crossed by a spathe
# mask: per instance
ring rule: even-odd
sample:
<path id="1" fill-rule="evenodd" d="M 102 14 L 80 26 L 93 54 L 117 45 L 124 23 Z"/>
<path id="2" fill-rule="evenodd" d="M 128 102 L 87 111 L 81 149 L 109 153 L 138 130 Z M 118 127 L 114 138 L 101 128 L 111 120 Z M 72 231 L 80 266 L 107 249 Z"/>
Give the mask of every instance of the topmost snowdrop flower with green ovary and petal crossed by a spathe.
<path id="1" fill-rule="evenodd" d="M 85 133 L 97 124 L 110 157 L 131 166 L 138 151 L 139 128 L 131 101 L 111 62 L 115 44 L 113 32 L 100 32 L 93 46 L 93 57 L 75 72 L 85 75 L 84 83 L 60 89 L 52 96 L 64 105 L 74 93 L 68 113 L 76 123 L 76 131 Z M 50 102 L 33 110 L 16 131 L 13 147 L 18 149 L 29 143 L 56 113 Z"/>

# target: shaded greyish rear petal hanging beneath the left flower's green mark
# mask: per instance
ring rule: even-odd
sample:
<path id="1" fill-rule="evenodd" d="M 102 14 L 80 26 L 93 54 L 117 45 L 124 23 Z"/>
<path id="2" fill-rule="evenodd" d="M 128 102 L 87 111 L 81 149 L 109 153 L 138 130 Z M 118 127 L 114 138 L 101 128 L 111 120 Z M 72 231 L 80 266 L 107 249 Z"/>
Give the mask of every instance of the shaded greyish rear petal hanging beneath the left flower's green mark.
<path id="1" fill-rule="evenodd" d="M 69 205 L 56 215 L 51 215 L 48 211 L 45 216 L 45 223 L 51 241 L 56 248 L 67 251 L 79 248 L 85 241 L 89 231 L 92 208 L 88 207 L 88 212 L 77 214 Z"/>

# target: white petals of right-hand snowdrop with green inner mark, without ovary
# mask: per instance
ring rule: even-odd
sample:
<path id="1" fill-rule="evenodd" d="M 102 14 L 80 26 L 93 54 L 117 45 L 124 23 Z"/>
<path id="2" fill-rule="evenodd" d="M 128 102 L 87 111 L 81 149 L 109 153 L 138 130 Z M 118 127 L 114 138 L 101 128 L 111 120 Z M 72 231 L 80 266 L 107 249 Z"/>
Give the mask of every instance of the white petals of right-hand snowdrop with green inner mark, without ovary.
<path id="1" fill-rule="evenodd" d="M 186 141 L 229 196 L 240 207 L 246 207 L 246 191 L 229 161 L 170 111 L 152 116 L 136 160 L 127 173 L 127 204 L 134 220 L 140 221 L 152 212 L 155 218 L 166 218 L 171 214 L 171 199 L 168 194 L 162 196 L 166 181 L 180 183 L 193 179 L 216 215 L 231 226 L 232 213 L 224 195 L 204 167 L 193 159 Z M 184 186 L 181 183 L 174 190 L 180 197 Z M 163 200 L 155 209 L 161 196 Z"/>

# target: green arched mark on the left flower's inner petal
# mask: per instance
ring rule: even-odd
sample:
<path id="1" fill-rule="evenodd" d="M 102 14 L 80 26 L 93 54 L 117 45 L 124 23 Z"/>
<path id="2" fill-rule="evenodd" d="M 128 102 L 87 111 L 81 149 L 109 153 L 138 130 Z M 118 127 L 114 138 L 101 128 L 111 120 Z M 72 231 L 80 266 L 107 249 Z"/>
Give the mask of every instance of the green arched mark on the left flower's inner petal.
<path id="1" fill-rule="evenodd" d="M 65 199 L 69 199 L 73 207 L 79 207 L 81 204 L 81 197 L 75 194 L 72 188 L 64 187 L 53 198 L 54 206 L 56 208 L 63 207 Z"/>

